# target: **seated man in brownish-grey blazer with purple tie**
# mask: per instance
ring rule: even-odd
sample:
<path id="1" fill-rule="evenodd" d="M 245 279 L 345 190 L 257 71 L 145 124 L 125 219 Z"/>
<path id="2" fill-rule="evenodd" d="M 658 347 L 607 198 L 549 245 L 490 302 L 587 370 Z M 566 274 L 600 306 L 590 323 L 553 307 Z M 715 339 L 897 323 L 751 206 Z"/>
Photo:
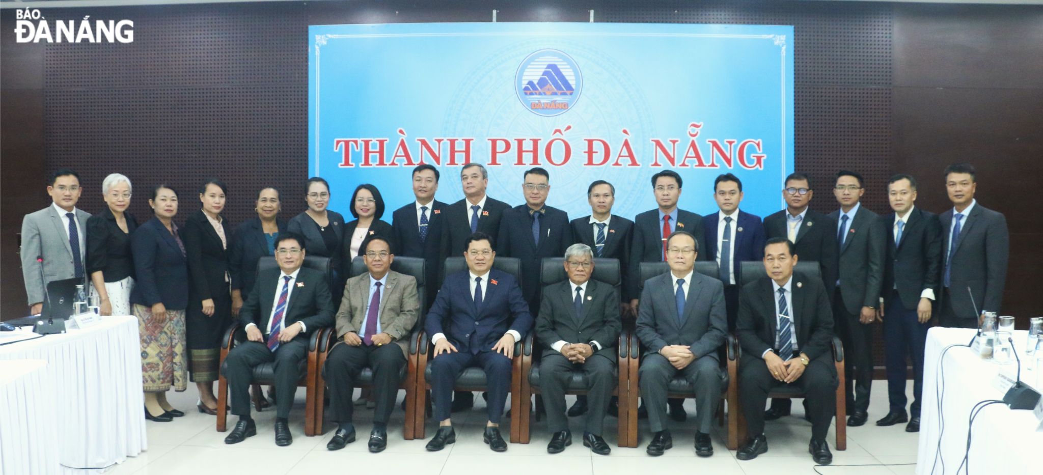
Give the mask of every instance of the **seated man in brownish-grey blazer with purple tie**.
<path id="1" fill-rule="evenodd" d="M 337 311 L 337 343 L 325 362 L 330 405 L 340 427 L 326 448 L 343 449 L 355 442 L 351 394 L 355 378 L 366 368 L 373 370 L 373 429 L 369 451 L 387 448 L 388 417 L 398 395 L 399 373 L 406 366 L 409 335 L 416 323 L 420 302 L 416 279 L 391 270 L 391 245 L 379 235 L 362 244 L 362 258 L 369 272 L 347 279 Z M 394 345 L 391 345 L 394 343 Z"/>

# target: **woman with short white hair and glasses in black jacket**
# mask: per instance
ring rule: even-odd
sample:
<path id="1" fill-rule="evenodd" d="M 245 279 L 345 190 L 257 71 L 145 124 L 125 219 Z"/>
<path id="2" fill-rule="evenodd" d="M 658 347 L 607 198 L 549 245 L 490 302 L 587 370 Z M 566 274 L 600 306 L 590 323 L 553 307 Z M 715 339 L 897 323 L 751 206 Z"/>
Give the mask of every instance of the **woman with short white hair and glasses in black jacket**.
<path id="1" fill-rule="evenodd" d="M 119 173 L 106 176 L 101 196 L 108 206 L 87 220 L 87 272 L 100 300 L 100 315 L 131 315 L 130 234 L 138 229 L 138 220 L 126 210 L 130 206 L 130 179 Z"/>

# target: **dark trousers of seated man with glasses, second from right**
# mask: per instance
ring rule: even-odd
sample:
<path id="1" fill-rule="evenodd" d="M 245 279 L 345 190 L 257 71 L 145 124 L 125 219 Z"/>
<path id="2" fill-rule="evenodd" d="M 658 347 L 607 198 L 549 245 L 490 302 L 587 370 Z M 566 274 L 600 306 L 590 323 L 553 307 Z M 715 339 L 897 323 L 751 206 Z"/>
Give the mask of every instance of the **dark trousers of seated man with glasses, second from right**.
<path id="1" fill-rule="evenodd" d="M 645 407 L 649 411 L 649 428 L 653 432 L 666 429 L 666 394 L 671 379 L 680 374 L 696 388 L 696 430 L 709 433 L 713 415 L 721 402 L 721 362 L 711 357 L 696 358 L 681 370 L 666 357 L 651 353 L 641 357 L 637 370 L 638 385 Z"/>

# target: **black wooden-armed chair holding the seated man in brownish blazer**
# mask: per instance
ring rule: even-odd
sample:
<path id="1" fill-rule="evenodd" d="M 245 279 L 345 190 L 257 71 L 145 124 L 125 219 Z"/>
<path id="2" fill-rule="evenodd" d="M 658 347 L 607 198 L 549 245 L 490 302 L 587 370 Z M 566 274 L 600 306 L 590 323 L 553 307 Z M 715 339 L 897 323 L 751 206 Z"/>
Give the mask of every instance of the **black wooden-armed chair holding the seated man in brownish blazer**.
<path id="1" fill-rule="evenodd" d="M 425 302 L 427 302 L 427 292 L 428 285 L 425 279 L 425 260 L 421 257 L 406 257 L 406 256 L 395 256 L 394 260 L 391 261 L 391 270 L 399 274 L 406 274 L 412 276 L 416 279 L 416 298 L 420 302 L 420 308 L 417 309 L 416 324 L 413 325 L 413 329 L 409 334 L 409 357 L 406 358 L 406 366 L 403 367 L 399 377 L 402 382 L 398 385 L 399 390 L 406 390 L 406 422 L 403 427 L 403 436 L 407 441 L 413 440 L 413 431 L 416 426 L 416 353 L 417 353 L 417 342 L 420 338 L 420 331 L 423 329 L 423 316 L 427 315 L 427 307 Z M 351 260 L 351 267 L 348 271 L 347 278 L 350 279 L 357 275 L 367 272 L 366 262 L 363 260 L 362 256 L 356 256 Z M 315 431 L 318 434 L 322 434 L 323 430 L 323 418 L 325 416 L 325 404 L 323 399 L 325 397 L 325 359 L 330 353 L 330 349 L 333 345 L 337 343 L 337 329 L 336 327 L 326 332 L 324 339 L 319 342 L 319 356 L 318 356 L 318 368 L 319 372 L 317 374 L 317 380 L 315 384 Z M 357 388 L 371 388 L 373 384 L 373 370 L 371 368 L 364 368 L 360 373 L 359 377 L 355 380 L 355 385 Z"/>

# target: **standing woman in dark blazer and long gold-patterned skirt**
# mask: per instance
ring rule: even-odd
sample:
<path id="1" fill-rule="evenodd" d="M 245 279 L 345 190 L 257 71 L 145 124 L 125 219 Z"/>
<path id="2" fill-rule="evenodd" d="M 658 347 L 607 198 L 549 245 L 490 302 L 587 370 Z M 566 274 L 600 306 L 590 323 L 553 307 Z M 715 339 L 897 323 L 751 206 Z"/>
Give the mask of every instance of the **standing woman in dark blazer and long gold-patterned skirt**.
<path id="1" fill-rule="evenodd" d="M 165 184 L 152 191 L 149 206 L 155 217 L 130 236 L 137 284 L 130 293 L 141 336 L 141 372 L 145 417 L 170 422 L 185 413 L 167 402 L 170 386 L 188 386 L 185 364 L 185 308 L 189 300 L 189 271 L 174 215 L 177 192 Z"/>

